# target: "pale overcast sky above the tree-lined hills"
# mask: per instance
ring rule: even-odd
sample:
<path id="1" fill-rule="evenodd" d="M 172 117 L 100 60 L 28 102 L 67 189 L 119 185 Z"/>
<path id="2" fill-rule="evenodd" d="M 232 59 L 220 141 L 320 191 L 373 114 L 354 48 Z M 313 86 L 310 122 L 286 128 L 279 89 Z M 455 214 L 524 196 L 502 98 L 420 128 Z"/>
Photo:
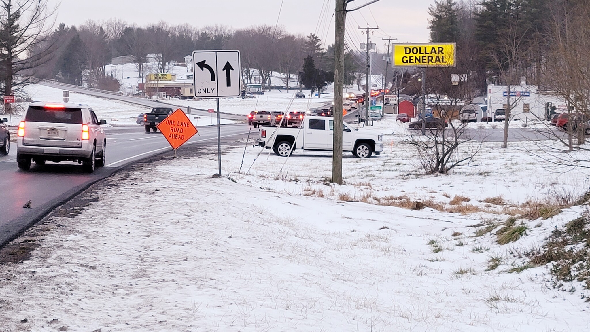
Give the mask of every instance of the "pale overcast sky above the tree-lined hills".
<path id="1" fill-rule="evenodd" d="M 121 18 L 129 23 L 145 25 L 166 21 L 169 24 L 188 23 L 195 27 L 228 25 L 233 28 L 251 25 L 275 25 L 281 0 L 48 0 L 58 4 L 57 22 L 78 25 L 87 19 Z M 356 0 L 349 8 L 369 0 Z M 427 9 L 434 0 L 381 0 L 356 12 L 349 13 L 347 37 L 349 44 L 366 40 L 358 27 L 379 27 L 372 35 L 378 48 L 381 38 L 391 36 L 399 42 L 428 42 Z M 324 6 L 324 4 L 326 4 Z M 335 0 L 283 0 L 278 24 L 291 33 L 317 35 L 332 44 L 334 40 Z M 328 13 L 320 17 L 326 8 Z M 370 10 L 369 10 L 370 8 Z M 329 27 L 329 31 L 327 30 Z"/>

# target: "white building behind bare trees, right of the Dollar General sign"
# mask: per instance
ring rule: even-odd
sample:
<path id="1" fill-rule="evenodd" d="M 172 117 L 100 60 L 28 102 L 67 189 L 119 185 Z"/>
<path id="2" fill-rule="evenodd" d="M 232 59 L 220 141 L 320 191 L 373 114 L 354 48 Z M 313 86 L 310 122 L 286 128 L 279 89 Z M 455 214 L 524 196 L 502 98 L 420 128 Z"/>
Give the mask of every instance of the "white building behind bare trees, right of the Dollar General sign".
<path id="1" fill-rule="evenodd" d="M 490 115 L 496 110 L 506 110 L 509 100 L 513 119 L 546 120 L 548 103 L 557 107 L 558 113 L 568 110 L 565 101 L 551 96 L 549 91 L 539 91 L 539 86 L 511 86 L 510 98 L 508 98 L 508 90 L 508 86 L 490 84 L 487 87 L 487 109 Z"/>

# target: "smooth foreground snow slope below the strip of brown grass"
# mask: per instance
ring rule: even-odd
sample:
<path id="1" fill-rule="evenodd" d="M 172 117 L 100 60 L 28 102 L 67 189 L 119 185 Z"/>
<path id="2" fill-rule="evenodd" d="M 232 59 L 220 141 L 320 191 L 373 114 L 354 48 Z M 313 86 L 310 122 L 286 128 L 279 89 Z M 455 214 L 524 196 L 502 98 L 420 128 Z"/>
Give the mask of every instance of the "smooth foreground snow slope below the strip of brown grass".
<path id="1" fill-rule="evenodd" d="M 477 215 L 287 195 L 209 177 L 216 170 L 204 156 L 116 175 L 80 215 L 38 226 L 51 231 L 32 259 L 0 267 L 0 330 L 42 330 L 53 319 L 71 331 L 572 331 L 590 323 L 588 304 L 552 290 L 545 268 L 507 272 L 520 263 L 510 252 L 574 211 L 500 246 L 490 234 L 473 236 Z M 487 271 L 492 256 L 500 263 Z"/>

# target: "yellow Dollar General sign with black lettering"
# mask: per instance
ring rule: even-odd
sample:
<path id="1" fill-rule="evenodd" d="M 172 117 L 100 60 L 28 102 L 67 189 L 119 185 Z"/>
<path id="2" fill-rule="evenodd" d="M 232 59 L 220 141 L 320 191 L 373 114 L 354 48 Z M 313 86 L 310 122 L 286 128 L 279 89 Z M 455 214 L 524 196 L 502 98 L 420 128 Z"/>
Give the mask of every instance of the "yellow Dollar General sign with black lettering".
<path id="1" fill-rule="evenodd" d="M 455 43 L 395 44 L 396 67 L 455 67 Z"/>

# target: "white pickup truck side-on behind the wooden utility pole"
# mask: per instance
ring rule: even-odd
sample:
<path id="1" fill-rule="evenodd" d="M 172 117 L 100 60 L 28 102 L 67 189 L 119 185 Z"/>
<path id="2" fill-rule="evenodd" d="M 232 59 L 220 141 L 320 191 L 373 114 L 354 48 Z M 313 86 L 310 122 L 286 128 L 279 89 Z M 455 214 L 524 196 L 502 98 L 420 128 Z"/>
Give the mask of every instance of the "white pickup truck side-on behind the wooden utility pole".
<path id="1" fill-rule="evenodd" d="M 286 157 L 295 149 L 332 151 L 334 119 L 323 116 L 306 116 L 302 127 L 262 127 L 257 143 L 273 149 L 277 156 Z M 368 158 L 383 151 L 383 135 L 369 130 L 358 130 L 343 124 L 342 150 L 359 158 Z"/>

